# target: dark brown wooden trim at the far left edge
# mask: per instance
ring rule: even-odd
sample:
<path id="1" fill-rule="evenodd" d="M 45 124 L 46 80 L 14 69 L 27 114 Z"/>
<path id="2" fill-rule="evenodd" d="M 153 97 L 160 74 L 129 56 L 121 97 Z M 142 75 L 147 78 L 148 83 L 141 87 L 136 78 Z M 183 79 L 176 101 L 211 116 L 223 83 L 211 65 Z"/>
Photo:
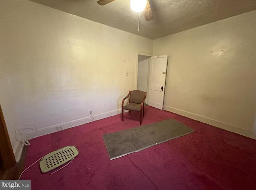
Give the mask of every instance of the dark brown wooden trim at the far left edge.
<path id="1" fill-rule="evenodd" d="M 4 114 L 2 112 L 0 104 L 0 156 L 1 156 L 1 168 L 12 168 L 16 164 L 14 153 L 12 150 L 12 144 L 8 135 L 6 123 L 4 120 Z"/>

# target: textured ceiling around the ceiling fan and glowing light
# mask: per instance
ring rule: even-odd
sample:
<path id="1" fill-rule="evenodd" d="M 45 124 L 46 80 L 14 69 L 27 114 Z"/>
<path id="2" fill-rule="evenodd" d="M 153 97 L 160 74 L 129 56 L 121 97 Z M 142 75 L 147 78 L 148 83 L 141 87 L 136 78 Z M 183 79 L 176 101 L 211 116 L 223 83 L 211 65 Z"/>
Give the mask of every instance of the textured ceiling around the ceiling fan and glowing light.
<path id="1" fill-rule="evenodd" d="M 100 6 L 97 0 L 30 0 L 126 32 L 156 39 L 256 10 L 256 0 L 149 0 L 154 19 L 140 18 L 129 0 Z"/>

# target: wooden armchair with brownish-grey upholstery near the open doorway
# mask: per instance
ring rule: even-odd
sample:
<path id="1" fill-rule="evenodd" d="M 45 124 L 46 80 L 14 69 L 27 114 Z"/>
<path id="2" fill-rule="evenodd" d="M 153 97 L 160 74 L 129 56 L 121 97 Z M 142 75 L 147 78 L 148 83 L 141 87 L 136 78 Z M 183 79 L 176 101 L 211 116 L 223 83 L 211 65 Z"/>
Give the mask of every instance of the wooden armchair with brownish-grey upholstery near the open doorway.
<path id="1" fill-rule="evenodd" d="M 129 96 L 130 96 L 129 104 L 124 106 L 124 100 Z M 147 93 L 140 90 L 129 91 L 128 95 L 122 101 L 122 121 L 124 120 L 124 109 L 129 110 L 130 114 L 131 114 L 131 110 L 138 111 L 140 112 L 140 125 L 141 125 L 142 113 L 144 117 L 144 102 L 145 102 L 146 96 L 147 96 Z"/>

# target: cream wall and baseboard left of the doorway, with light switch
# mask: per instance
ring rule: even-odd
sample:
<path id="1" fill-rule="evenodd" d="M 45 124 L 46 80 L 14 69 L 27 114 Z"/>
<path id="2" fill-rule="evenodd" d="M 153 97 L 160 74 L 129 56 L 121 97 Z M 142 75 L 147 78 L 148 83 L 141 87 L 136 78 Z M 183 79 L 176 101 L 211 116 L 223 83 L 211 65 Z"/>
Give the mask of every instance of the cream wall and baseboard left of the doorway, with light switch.
<path id="1" fill-rule="evenodd" d="M 38 127 L 31 138 L 91 122 L 89 110 L 95 119 L 117 114 L 136 86 L 136 52 L 153 51 L 153 40 L 34 2 L 1 0 L 0 7 L 0 103 L 18 121 L 7 121 L 13 145 L 24 122 Z"/>

